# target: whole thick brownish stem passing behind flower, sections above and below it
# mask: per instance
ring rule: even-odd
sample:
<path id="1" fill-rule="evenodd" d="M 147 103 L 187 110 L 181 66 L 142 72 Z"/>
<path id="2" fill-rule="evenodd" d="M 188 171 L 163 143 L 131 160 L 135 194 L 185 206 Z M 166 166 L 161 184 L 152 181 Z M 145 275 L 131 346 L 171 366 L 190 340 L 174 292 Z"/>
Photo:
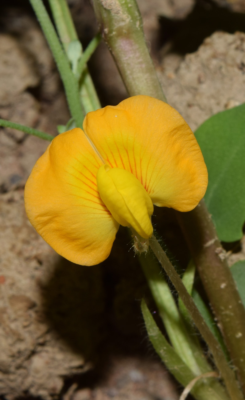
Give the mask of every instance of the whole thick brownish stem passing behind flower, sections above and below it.
<path id="1" fill-rule="evenodd" d="M 142 21 L 135 1 L 93 0 L 93 4 L 103 38 L 115 58 L 129 95 L 147 94 L 166 101 L 144 42 Z M 227 263 L 222 259 L 222 248 L 213 222 L 207 218 L 204 201 L 195 210 L 178 213 L 178 220 L 244 387 L 245 310 Z M 229 302 L 231 297 L 233 300 Z"/>

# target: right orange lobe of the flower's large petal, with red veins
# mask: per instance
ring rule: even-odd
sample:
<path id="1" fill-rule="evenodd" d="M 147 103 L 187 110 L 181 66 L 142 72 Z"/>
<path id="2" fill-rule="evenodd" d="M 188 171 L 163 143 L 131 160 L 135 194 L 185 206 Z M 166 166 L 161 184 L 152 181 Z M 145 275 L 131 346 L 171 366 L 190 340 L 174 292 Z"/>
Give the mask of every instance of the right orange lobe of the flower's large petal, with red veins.
<path id="1" fill-rule="evenodd" d="M 104 162 L 134 174 L 157 206 L 192 210 L 205 194 L 207 169 L 182 116 L 149 96 L 89 112 L 83 128 Z"/>

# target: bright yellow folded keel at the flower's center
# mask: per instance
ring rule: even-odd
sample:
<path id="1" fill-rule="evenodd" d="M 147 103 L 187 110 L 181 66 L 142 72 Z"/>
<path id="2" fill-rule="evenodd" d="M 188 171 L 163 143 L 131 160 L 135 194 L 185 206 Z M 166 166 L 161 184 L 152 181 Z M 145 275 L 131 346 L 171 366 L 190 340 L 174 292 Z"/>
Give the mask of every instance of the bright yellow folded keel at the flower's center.
<path id="1" fill-rule="evenodd" d="M 97 186 L 102 201 L 119 224 L 132 226 L 142 238 L 152 236 L 153 204 L 136 176 L 104 164 L 97 172 Z"/>

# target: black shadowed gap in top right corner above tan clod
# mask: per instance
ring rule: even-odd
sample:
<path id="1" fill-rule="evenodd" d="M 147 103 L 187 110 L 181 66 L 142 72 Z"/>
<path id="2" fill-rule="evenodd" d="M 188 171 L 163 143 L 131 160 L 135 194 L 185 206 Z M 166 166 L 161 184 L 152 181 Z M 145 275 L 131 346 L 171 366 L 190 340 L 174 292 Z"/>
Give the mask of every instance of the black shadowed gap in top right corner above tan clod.
<path id="1" fill-rule="evenodd" d="M 184 20 L 159 18 L 159 49 L 171 42 L 171 52 L 185 55 L 195 52 L 205 38 L 217 30 L 245 32 L 245 14 L 231 12 L 211 0 L 196 0 L 192 12 Z"/>

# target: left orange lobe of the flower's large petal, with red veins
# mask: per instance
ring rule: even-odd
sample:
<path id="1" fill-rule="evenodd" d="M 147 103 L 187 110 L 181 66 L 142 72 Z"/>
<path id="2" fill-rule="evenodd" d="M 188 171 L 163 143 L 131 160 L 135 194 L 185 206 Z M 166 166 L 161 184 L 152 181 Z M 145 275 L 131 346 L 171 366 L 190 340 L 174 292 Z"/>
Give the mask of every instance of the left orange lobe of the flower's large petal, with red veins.
<path id="1" fill-rule="evenodd" d="M 97 190 L 102 164 L 75 128 L 53 139 L 25 187 L 31 224 L 58 254 L 81 265 L 105 260 L 119 228 Z"/>

